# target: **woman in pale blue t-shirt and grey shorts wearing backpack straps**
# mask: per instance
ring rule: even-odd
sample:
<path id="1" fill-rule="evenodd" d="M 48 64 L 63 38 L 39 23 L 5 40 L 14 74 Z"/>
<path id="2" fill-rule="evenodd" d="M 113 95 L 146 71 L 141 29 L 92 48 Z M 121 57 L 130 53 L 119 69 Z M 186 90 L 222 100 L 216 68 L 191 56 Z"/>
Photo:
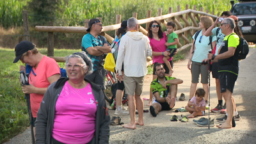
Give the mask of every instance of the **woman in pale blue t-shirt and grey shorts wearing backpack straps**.
<path id="1" fill-rule="evenodd" d="M 203 65 L 202 60 L 207 58 L 209 51 L 212 51 L 216 44 L 216 36 L 211 38 L 205 36 L 205 31 L 213 24 L 213 20 L 209 16 L 202 16 L 199 22 L 200 33 L 195 38 L 193 35 L 193 45 L 189 51 L 188 69 L 191 70 L 192 81 L 189 92 L 189 100 L 195 95 L 197 83 L 199 83 L 199 75 L 201 74 L 201 83 L 205 91 L 205 102 L 208 103 L 209 86 L 208 86 L 208 65 Z M 192 63 L 191 63 L 192 62 Z"/>

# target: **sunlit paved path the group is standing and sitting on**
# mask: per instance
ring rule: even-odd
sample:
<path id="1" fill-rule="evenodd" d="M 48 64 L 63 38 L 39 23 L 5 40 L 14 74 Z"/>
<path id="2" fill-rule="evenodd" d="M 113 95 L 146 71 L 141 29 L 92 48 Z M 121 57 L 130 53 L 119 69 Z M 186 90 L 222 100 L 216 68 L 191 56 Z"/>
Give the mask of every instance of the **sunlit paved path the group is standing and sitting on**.
<path id="1" fill-rule="evenodd" d="M 193 119 L 189 122 L 170 122 L 172 115 L 188 115 L 189 113 L 175 113 L 171 111 L 161 111 L 156 117 L 152 117 L 150 113 L 144 113 L 144 126 L 137 126 L 135 130 L 124 129 L 121 125 L 110 126 L 109 143 L 255 143 L 256 140 L 256 49 L 250 49 L 246 60 L 240 62 L 239 76 L 234 89 L 234 99 L 239 114 L 242 116 L 240 121 L 236 122 L 236 127 L 232 129 L 218 129 L 216 126 L 208 129 L 207 127 L 198 127 L 193 123 Z M 189 98 L 189 88 L 191 84 L 191 73 L 186 68 L 188 59 L 174 63 L 173 76 L 182 79 L 183 84 L 178 86 L 176 108 L 186 106 Z M 145 86 L 142 97 L 149 98 L 149 86 L 152 76 L 145 77 Z M 202 84 L 198 84 L 198 88 L 202 88 Z M 180 93 L 186 95 L 186 100 L 179 101 Z M 211 79 L 211 107 L 218 104 L 216 96 L 215 80 Z M 144 101 L 144 109 L 148 101 Z M 208 117 L 208 111 L 206 111 Z M 110 109 L 111 117 L 115 111 Z M 211 113 L 211 118 L 222 116 L 220 113 Z M 129 123 L 129 115 L 120 116 L 124 124 Z M 138 115 L 136 115 L 138 118 Z M 198 118 L 195 118 L 196 120 Z M 216 124 L 220 124 L 216 122 Z M 31 143 L 30 132 L 27 129 L 24 133 L 19 134 L 9 143 Z"/>

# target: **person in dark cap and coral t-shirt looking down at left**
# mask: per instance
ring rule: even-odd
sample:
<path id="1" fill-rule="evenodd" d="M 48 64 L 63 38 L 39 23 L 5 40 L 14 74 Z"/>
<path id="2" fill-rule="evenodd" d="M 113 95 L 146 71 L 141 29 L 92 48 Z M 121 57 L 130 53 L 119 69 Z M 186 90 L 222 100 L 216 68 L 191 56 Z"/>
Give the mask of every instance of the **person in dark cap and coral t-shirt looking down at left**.
<path id="1" fill-rule="evenodd" d="M 29 41 L 22 41 L 16 45 L 15 56 L 13 63 L 17 63 L 20 60 L 22 63 L 27 63 L 27 71 L 31 69 L 28 77 L 29 85 L 22 86 L 22 91 L 30 94 L 31 112 L 35 126 L 36 114 L 44 93 L 51 83 L 60 78 L 60 67 L 54 59 L 41 54 L 36 49 L 36 45 Z M 20 65 L 19 70 L 26 72 L 26 68 L 24 65 Z"/>

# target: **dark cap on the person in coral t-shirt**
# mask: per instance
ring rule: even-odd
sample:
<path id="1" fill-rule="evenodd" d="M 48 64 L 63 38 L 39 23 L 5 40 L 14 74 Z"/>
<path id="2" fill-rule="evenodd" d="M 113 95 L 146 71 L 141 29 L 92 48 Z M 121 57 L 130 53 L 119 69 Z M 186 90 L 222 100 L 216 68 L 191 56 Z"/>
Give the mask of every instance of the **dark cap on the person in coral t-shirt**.
<path id="1" fill-rule="evenodd" d="M 13 63 L 17 63 L 20 60 L 20 57 L 22 56 L 22 54 L 34 48 L 35 48 L 35 45 L 32 42 L 29 42 L 26 40 L 17 44 L 15 47 L 16 58 L 14 59 Z"/>

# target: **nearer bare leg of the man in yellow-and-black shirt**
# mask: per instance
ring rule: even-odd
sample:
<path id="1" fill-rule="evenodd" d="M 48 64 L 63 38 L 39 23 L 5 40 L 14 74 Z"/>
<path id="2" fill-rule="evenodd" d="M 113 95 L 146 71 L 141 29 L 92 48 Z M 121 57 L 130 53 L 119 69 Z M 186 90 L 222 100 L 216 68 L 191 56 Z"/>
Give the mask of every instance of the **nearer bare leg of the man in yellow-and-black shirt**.
<path id="1" fill-rule="evenodd" d="M 234 104 L 232 100 L 232 93 L 228 89 L 226 89 L 226 92 L 223 92 L 222 94 L 226 102 L 228 117 L 226 122 L 219 126 L 219 128 L 230 129 L 232 127 L 232 118 L 234 116 Z"/>

